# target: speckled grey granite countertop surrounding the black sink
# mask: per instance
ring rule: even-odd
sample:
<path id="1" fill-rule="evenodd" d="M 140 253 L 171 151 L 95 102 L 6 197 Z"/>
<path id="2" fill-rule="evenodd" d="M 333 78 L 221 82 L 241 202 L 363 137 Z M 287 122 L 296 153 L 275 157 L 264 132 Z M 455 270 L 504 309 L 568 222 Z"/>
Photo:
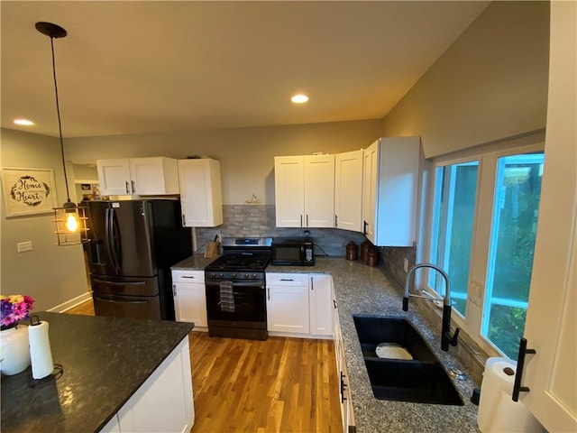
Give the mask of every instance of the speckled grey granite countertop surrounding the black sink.
<path id="1" fill-rule="evenodd" d="M 371 382 L 353 323 L 353 314 L 407 317 L 425 337 L 429 347 L 445 368 L 455 366 L 463 373 L 468 373 L 463 364 L 453 356 L 452 348 L 449 348 L 448 353 L 441 351 L 441 336 L 434 333 L 426 321 L 411 309 L 410 301 L 408 312 L 401 309 L 401 288 L 379 268 L 340 258 L 316 258 L 316 265 L 313 267 L 270 265 L 267 272 L 327 272 L 333 276 L 358 432 L 478 431 L 476 421 L 478 406 L 473 405 L 469 399 L 473 388 L 479 384 L 469 379 L 455 381 L 464 406 L 380 401 L 373 397 Z"/>

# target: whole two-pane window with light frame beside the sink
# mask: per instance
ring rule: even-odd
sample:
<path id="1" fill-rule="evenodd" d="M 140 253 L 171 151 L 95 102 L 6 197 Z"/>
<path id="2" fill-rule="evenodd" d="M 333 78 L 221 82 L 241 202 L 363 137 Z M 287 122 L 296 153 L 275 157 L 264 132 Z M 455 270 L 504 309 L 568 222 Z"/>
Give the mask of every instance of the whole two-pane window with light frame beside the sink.
<path id="1" fill-rule="evenodd" d="M 433 161 L 422 262 L 451 280 L 453 319 L 491 355 L 517 357 L 544 170 L 543 144 L 495 144 Z M 428 272 L 428 290 L 444 281 Z"/>

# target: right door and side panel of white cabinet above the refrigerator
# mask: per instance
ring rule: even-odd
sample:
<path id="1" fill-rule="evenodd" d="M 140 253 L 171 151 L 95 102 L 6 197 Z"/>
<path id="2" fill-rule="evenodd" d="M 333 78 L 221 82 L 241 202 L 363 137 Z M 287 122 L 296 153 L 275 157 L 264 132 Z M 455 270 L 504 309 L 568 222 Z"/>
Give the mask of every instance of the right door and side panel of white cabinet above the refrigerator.
<path id="1" fill-rule="evenodd" d="M 133 158 L 130 160 L 133 194 L 178 194 L 176 160 L 169 158 Z"/>

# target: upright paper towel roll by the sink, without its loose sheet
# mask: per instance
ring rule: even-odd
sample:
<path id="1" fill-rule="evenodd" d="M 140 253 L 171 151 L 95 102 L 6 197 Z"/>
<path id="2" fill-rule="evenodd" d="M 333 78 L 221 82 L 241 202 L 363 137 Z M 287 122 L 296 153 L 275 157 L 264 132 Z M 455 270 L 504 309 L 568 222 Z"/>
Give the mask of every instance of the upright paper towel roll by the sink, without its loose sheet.
<path id="1" fill-rule="evenodd" d="M 513 392 L 515 376 L 505 373 L 506 368 L 516 371 L 517 362 L 508 358 L 489 358 L 485 364 L 477 414 L 477 425 L 482 433 L 491 431 L 491 424 L 499 406 L 501 393 L 505 392 L 511 395 Z"/>

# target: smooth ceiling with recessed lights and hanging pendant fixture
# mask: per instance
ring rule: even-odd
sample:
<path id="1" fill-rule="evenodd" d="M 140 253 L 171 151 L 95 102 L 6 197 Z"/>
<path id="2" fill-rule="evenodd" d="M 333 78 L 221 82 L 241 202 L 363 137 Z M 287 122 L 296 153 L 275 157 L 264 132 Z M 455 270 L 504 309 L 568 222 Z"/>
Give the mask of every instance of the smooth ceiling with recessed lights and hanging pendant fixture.
<path id="1" fill-rule="evenodd" d="M 69 33 L 62 132 L 80 137 L 380 119 L 488 4 L 3 0 L 2 126 L 58 135 L 39 21 Z"/>

